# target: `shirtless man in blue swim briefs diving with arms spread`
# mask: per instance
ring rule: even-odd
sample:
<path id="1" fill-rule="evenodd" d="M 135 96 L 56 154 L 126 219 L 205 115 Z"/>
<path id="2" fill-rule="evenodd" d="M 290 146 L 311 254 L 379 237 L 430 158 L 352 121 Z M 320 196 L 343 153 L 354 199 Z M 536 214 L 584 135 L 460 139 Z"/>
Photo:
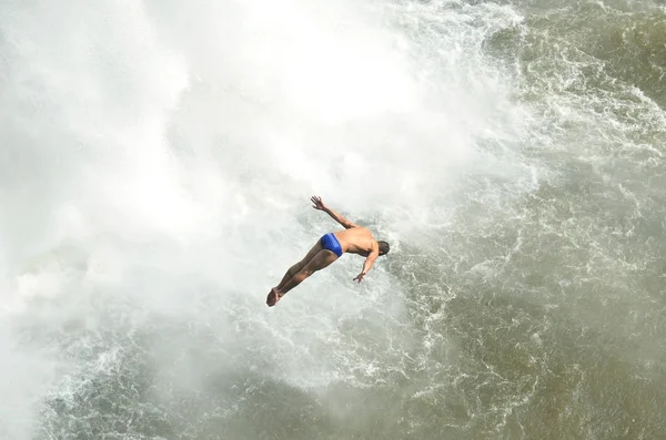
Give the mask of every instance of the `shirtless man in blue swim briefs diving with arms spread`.
<path id="1" fill-rule="evenodd" d="M 311 201 L 314 204 L 313 208 L 329 214 L 335 222 L 344 226 L 345 231 L 324 235 L 302 260 L 286 270 L 280 284 L 271 289 L 266 298 L 269 307 L 274 306 L 289 290 L 303 283 L 310 275 L 335 262 L 345 252 L 366 257 L 363 270 L 353 279 L 359 283 L 363 280 L 375 259 L 380 255 L 389 253 L 389 243 L 375 241 L 369 229 L 354 225 L 335 211 L 330 209 L 322 202 L 322 197 L 313 196 Z"/>

